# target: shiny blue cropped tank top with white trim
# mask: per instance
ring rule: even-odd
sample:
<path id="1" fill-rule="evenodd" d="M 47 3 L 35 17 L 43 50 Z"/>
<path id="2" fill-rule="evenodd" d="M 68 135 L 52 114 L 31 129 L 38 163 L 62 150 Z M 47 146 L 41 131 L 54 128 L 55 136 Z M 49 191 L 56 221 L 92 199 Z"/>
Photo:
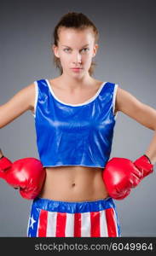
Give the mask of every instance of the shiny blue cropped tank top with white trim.
<path id="1" fill-rule="evenodd" d="M 118 84 L 102 83 L 95 96 L 82 104 L 61 102 L 48 79 L 34 84 L 36 138 L 43 166 L 103 168 L 112 148 Z"/>

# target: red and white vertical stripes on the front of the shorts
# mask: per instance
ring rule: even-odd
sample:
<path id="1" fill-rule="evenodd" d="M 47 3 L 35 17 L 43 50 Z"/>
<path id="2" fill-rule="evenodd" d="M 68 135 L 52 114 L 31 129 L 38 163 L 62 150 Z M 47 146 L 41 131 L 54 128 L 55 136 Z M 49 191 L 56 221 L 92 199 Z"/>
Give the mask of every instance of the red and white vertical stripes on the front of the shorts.
<path id="1" fill-rule="evenodd" d="M 48 212 L 41 210 L 37 236 L 43 237 L 117 237 L 116 212 L 107 208 L 99 212 Z"/>

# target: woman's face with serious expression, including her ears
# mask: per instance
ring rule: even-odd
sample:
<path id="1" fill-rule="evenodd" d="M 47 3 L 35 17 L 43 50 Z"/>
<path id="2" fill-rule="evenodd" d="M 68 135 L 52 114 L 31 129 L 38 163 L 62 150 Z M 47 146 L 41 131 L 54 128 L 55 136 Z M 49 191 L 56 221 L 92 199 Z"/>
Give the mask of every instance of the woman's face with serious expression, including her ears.
<path id="1" fill-rule="evenodd" d="M 76 30 L 61 27 L 58 47 L 53 45 L 55 56 L 60 58 L 63 73 L 82 77 L 88 73 L 98 44 L 90 28 Z M 77 69 L 74 69 L 77 68 Z"/>

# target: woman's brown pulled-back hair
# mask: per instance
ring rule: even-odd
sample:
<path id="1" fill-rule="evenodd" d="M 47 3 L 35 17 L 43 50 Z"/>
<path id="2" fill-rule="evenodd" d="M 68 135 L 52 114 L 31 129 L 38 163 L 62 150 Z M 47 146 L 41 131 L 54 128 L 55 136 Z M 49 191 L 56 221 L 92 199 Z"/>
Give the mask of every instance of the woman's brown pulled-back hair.
<path id="1" fill-rule="evenodd" d="M 66 28 L 75 28 L 78 30 L 83 30 L 85 28 L 92 28 L 94 34 L 95 34 L 95 44 L 98 42 L 99 39 L 99 32 L 93 22 L 84 14 L 82 13 L 75 13 L 75 12 L 69 12 L 66 15 L 63 15 L 61 17 L 61 20 L 59 20 L 58 24 L 55 26 L 54 32 L 53 32 L 53 38 L 54 38 L 54 44 L 55 46 L 58 46 L 59 42 L 59 29 L 61 27 Z M 59 58 L 57 58 L 54 55 L 54 64 L 56 68 L 59 68 L 60 73 L 63 73 L 62 67 L 61 67 L 61 61 Z M 94 73 L 94 66 L 96 63 L 94 61 L 91 62 L 89 73 L 90 76 Z"/>

